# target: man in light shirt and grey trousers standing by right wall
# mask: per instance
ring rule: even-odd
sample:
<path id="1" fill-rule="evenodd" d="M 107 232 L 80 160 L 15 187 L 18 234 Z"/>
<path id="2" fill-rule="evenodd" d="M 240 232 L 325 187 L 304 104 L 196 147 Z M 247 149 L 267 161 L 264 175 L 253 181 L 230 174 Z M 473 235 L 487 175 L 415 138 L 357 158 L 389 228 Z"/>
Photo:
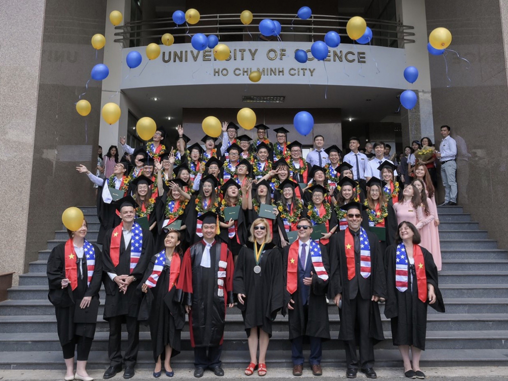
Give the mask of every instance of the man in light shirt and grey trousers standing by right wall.
<path id="1" fill-rule="evenodd" d="M 450 136 L 450 126 L 441 126 L 443 140 L 439 144 L 436 157 L 441 163 L 441 178 L 444 185 L 444 202 L 441 205 L 457 205 L 457 142 Z"/>

